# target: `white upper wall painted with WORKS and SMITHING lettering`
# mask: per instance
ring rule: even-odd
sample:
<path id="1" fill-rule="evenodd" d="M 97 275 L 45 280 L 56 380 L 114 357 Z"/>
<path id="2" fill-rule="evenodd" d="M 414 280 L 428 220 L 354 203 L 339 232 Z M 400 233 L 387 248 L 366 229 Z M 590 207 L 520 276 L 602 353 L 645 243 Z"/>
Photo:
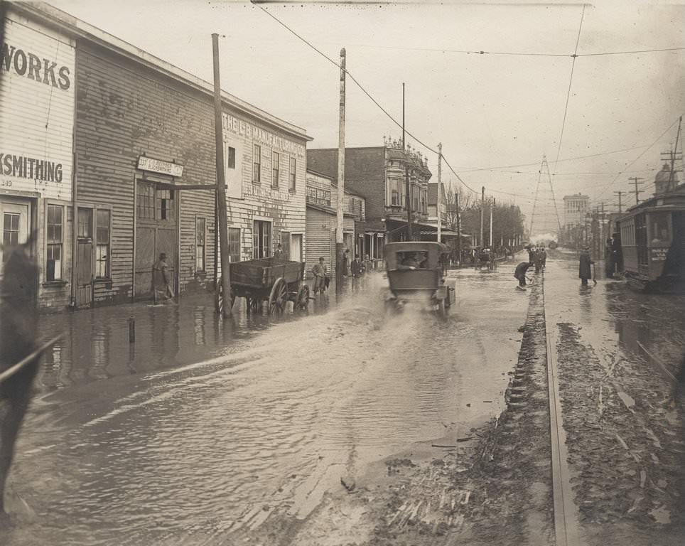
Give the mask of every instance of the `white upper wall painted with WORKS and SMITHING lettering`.
<path id="1" fill-rule="evenodd" d="M 69 38 L 6 18 L 0 54 L 0 187 L 70 199 L 75 50 Z"/>

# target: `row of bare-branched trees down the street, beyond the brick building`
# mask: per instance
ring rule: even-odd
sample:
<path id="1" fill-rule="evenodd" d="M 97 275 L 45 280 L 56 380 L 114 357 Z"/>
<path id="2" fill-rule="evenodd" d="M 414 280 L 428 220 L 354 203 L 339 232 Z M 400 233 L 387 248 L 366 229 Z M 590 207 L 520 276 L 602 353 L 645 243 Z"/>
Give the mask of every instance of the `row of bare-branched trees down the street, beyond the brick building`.
<path id="1" fill-rule="evenodd" d="M 492 245 L 497 248 L 516 245 L 514 241 L 524 242 L 525 216 L 518 205 L 503 203 L 491 197 L 485 197 L 481 203 L 480 196 L 465 191 L 463 188 L 449 187 L 446 191 L 447 213 L 443 221 L 451 230 L 460 230 L 463 234 L 475 235 L 477 245 L 480 241 L 480 209 L 483 207 L 483 240 L 490 242 L 490 208 L 492 207 Z"/>

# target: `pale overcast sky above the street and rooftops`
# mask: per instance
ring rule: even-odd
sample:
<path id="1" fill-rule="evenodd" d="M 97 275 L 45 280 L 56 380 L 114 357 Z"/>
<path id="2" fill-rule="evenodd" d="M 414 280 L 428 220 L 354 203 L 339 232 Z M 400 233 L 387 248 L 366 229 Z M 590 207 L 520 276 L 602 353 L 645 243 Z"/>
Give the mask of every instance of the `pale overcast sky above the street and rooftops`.
<path id="1" fill-rule="evenodd" d="M 223 89 L 306 129 L 314 139 L 309 148 L 338 146 L 339 69 L 259 6 L 201 0 L 50 4 L 207 81 L 210 35 L 220 33 Z M 662 165 L 659 153 L 674 144 L 685 112 L 685 50 L 578 56 L 563 123 L 581 4 L 261 6 L 336 62 L 345 47 L 347 70 L 398 122 L 406 82 L 406 129 L 433 149 L 442 142 L 446 160 L 468 186 L 515 201 L 529 220 L 544 154 L 560 215 L 561 198 L 571 193 L 616 203 L 614 191 L 630 191 L 629 176 L 646 178 L 641 197 L 653 193 L 648 183 Z M 578 55 L 685 48 L 684 23 L 683 3 L 588 4 Z M 536 55 L 460 53 L 481 50 Z M 349 78 L 345 132 L 347 146 L 401 137 Z M 427 154 L 436 181 L 436 154 L 409 141 Z M 607 154 L 617 150 L 625 151 Z M 573 159 L 591 154 L 603 155 Z M 572 160 L 556 163 L 558 156 Z M 443 181 L 450 178 L 456 183 L 443 165 Z M 546 173 L 542 181 L 536 231 L 556 225 Z M 634 203 L 635 196 L 623 200 Z"/>

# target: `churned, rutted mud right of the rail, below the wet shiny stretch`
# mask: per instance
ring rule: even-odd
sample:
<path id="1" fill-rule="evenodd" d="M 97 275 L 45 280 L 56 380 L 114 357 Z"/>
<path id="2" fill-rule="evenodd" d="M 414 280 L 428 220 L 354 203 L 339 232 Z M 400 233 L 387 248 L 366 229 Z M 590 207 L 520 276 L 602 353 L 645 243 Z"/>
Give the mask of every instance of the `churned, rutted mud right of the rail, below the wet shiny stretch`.
<path id="1" fill-rule="evenodd" d="M 560 396 L 571 486 L 586 544 L 685 544 L 683 414 L 642 360 L 604 358 L 559 329 Z"/>

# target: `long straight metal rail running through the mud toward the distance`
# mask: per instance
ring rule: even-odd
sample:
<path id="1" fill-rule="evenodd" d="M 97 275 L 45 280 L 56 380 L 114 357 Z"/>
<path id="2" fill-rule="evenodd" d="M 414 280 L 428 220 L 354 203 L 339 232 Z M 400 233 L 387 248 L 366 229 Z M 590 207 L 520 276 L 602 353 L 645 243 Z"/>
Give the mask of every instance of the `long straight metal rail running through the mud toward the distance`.
<path id="1" fill-rule="evenodd" d="M 554 534 L 556 536 L 556 546 L 583 546 L 576 518 L 576 504 L 573 502 L 573 491 L 571 490 L 571 478 L 567 462 L 566 434 L 563 431 L 561 415 L 559 370 L 556 363 L 557 331 L 554 324 L 547 322 L 547 309 L 544 304 L 544 273 L 541 289 L 545 316 L 547 385 L 549 388 L 549 436 L 552 455 Z"/>

